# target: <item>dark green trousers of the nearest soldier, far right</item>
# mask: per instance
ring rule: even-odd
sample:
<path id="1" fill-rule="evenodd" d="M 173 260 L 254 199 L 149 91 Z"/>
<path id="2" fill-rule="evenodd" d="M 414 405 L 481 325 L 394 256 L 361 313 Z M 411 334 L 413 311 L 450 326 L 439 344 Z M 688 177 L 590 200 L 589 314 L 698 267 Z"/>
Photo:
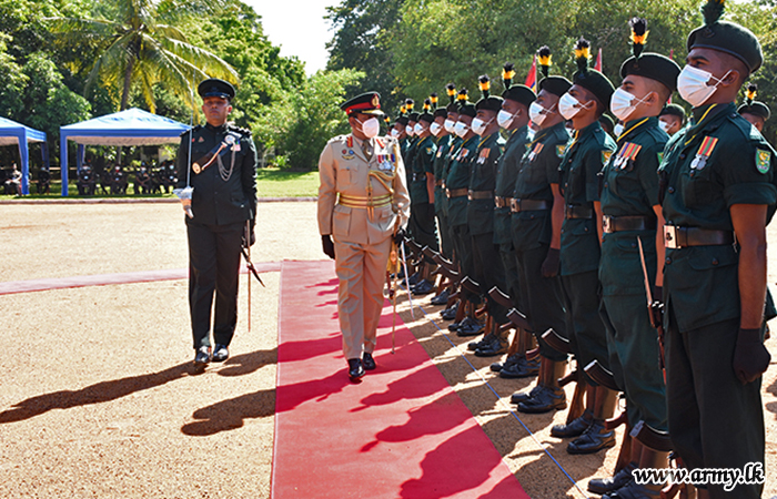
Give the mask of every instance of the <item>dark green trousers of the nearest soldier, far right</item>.
<path id="1" fill-rule="evenodd" d="M 731 367 L 739 319 L 680 333 L 668 302 L 666 395 L 675 450 L 689 469 L 744 470 L 749 462 L 764 464 L 761 378 L 743 385 Z M 738 485 L 729 492 L 719 485 L 707 489 L 712 499 L 756 499 L 764 486 Z"/>

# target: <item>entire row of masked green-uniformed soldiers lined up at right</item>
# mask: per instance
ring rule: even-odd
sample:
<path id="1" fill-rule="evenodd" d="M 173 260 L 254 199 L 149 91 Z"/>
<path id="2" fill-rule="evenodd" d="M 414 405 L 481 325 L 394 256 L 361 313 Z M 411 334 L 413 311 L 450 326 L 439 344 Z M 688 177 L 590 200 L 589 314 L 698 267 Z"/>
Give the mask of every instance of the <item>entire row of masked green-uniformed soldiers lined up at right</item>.
<path id="1" fill-rule="evenodd" d="M 428 294 L 434 275 L 445 276 L 432 303 L 447 305 L 448 329 L 483 334 L 468 345 L 474 355 L 507 355 L 492 365 L 500 376 L 538 375 L 512 401 L 529 414 L 569 407 L 552 429 L 568 452 L 613 447 L 615 427 L 627 425 L 613 477 L 588 486 L 608 498 L 659 497 L 663 483 L 637 483 L 633 471 L 666 468 L 673 450 L 689 469 L 764 462 L 774 151 L 755 89 L 739 114 L 734 104 L 763 62 L 760 45 L 722 12 L 720 1 L 705 7 L 683 70 L 643 51 L 647 22 L 635 18 L 617 89 L 588 68 L 579 39 L 571 81 L 549 74 L 543 47 L 536 94 L 512 84 L 505 64 L 501 98 L 483 75 L 476 103 L 448 84 L 446 106 L 432 94 L 413 112 L 407 100 L 390 125 L 411 195 L 412 291 Z M 683 108 L 667 105 L 674 91 L 693 106 L 687 125 Z M 606 111 L 618 120 L 614 136 Z M 567 374 L 571 358 L 577 369 Z M 615 418 L 618 394 L 625 410 Z M 697 488 L 755 498 L 763 479 L 733 492 Z"/>

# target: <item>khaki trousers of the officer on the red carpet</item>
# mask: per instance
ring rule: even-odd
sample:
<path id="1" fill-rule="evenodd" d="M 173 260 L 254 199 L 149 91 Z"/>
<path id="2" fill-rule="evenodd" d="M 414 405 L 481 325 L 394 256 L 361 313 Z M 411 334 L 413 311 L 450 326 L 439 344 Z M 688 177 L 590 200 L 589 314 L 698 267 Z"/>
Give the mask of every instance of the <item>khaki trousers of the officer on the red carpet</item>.
<path id="1" fill-rule="evenodd" d="M 346 359 L 375 350 L 390 251 L 391 237 L 373 244 L 334 242 L 337 315 Z"/>

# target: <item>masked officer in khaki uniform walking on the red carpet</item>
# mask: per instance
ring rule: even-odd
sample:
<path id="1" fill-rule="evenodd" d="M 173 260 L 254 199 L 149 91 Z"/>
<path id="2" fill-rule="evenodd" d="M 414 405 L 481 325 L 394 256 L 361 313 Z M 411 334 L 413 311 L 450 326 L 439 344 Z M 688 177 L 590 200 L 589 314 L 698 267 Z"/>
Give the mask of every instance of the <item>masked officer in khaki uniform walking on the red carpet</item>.
<path id="1" fill-rule="evenodd" d="M 376 136 L 380 95 L 364 93 L 340 108 L 351 133 L 330 140 L 319 159 L 319 232 L 335 259 L 343 353 L 357 380 L 375 368 L 386 264 L 392 236 L 407 223 L 410 196 L 398 143 Z"/>

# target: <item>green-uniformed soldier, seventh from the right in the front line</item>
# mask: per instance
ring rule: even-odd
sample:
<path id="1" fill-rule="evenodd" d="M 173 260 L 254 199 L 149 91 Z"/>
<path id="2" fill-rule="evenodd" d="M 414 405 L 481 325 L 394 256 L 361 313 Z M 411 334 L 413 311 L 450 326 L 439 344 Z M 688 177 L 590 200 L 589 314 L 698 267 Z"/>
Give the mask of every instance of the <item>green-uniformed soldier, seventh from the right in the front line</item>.
<path id="1" fill-rule="evenodd" d="M 462 89 L 460 95 L 466 96 L 466 90 Z M 474 163 L 477 160 L 478 136 L 472 130 L 472 122 L 477 114 L 475 104 L 461 101 L 458 108 L 458 121 L 455 133 L 462 140 L 462 144 L 453 150 L 451 166 L 445 177 L 445 195 L 448 198 L 448 224 L 453 235 L 454 251 L 458 256 L 458 265 L 462 275 L 475 276 L 473 263 L 472 235 L 467 223 L 470 177 Z M 474 306 L 480 303 L 480 296 L 464 289 L 464 301 L 458 306 L 467 306 L 466 317 L 461 323 L 448 325 L 448 330 L 456 332 L 460 336 L 478 335 L 484 325 L 474 317 Z M 466 302 L 466 304 L 464 303 Z"/>

